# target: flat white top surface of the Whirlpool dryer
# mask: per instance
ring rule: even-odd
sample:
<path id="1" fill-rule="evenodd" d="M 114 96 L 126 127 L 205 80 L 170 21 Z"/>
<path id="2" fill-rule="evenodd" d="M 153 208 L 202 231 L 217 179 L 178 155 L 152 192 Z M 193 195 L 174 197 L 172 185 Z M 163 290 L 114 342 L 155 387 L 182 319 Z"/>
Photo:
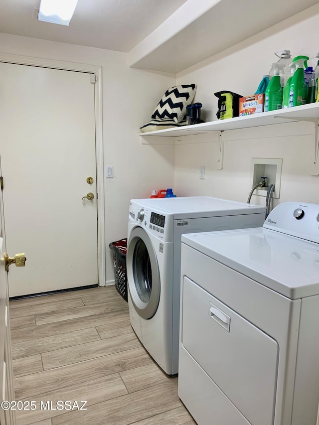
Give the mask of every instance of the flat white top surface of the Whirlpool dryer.
<path id="1" fill-rule="evenodd" d="M 317 243 L 265 228 L 190 233 L 181 240 L 290 299 L 319 294 Z"/>

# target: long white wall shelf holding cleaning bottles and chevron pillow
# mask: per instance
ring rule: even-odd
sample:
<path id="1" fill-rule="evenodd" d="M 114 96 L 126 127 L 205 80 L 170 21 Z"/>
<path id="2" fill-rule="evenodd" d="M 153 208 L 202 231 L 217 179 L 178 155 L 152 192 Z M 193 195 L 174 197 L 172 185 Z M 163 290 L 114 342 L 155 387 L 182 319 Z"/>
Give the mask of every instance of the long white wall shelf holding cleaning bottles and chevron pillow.
<path id="1" fill-rule="evenodd" d="M 208 132 L 222 132 L 227 130 L 246 129 L 250 127 L 269 126 L 296 121 L 314 121 L 319 119 L 319 103 L 295 106 L 294 108 L 278 111 L 262 112 L 245 117 L 229 118 L 227 120 L 211 121 L 208 123 L 171 128 L 155 132 L 140 133 L 148 137 L 180 137 Z M 314 121 L 315 122 L 315 121 Z"/>

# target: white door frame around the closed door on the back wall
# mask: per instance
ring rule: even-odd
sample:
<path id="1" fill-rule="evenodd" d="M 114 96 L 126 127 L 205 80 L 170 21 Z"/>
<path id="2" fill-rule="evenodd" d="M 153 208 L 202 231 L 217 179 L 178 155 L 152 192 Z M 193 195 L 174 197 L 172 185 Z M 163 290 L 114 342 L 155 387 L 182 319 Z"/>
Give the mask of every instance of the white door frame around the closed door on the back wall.
<path id="1" fill-rule="evenodd" d="M 102 67 L 85 63 L 57 61 L 0 53 L 0 62 L 18 65 L 38 66 L 42 68 L 78 71 L 92 74 L 94 78 L 95 103 L 95 156 L 96 156 L 96 188 L 97 188 L 97 233 L 98 233 L 98 283 L 106 285 L 105 270 L 105 218 L 104 218 L 104 162 L 103 162 L 103 127 L 102 127 Z M 93 77 L 94 76 L 94 77 Z"/>

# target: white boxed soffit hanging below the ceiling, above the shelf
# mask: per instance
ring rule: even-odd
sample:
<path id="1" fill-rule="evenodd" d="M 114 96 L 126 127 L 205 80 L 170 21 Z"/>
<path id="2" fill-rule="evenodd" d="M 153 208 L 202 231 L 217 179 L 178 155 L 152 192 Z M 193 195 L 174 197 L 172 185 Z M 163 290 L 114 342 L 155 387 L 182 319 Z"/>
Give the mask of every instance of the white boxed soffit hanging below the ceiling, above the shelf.
<path id="1" fill-rule="evenodd" d="M 317 3 L 187 0 L 128 53 L 128 65 L 178 73 Z"/>

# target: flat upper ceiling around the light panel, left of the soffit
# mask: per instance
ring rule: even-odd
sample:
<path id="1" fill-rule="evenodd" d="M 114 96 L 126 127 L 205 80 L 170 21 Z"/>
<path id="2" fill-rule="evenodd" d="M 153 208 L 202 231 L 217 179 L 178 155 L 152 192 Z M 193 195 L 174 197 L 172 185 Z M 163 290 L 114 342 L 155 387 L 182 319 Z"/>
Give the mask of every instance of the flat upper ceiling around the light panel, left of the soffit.
<path id="1" fill-rule="evenodd" d="M 129 52 L 187 0 L 79 0 L 69 26 L 40 22 L 40 0 L 0 0 L 0 32 Z"/>

